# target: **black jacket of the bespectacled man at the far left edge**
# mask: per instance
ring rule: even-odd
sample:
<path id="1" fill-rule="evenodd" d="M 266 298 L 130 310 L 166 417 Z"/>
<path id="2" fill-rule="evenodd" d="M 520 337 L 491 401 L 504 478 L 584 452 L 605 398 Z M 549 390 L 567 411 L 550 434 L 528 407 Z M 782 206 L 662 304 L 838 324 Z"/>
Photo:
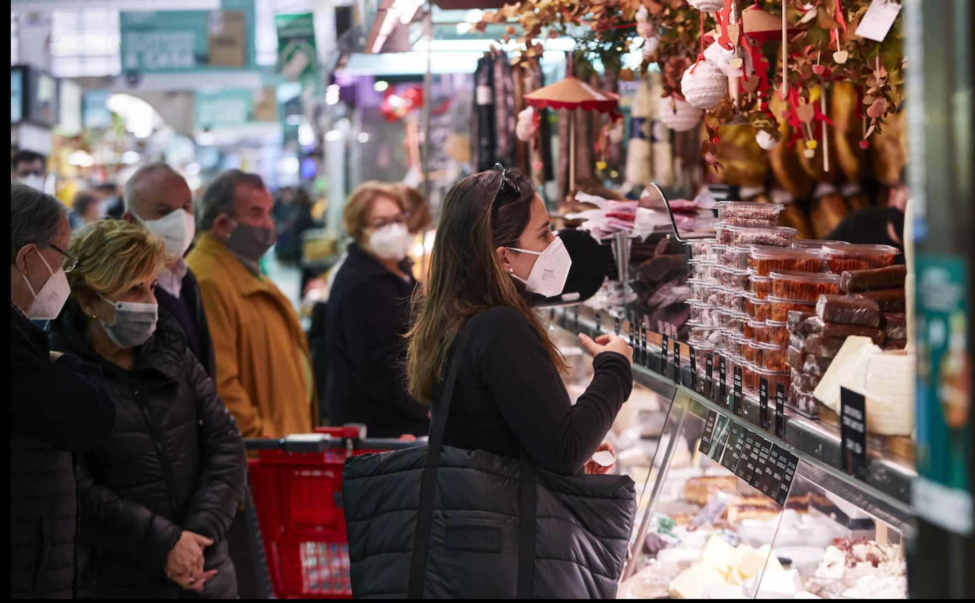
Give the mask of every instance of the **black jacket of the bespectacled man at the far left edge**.
<path id="1" fill-rule="evenodd" d="M 10 308 L 10 596 L 71 598 L 78 496 L 75 453 L 115 422 L 98 366 L 64 354 Z"/>

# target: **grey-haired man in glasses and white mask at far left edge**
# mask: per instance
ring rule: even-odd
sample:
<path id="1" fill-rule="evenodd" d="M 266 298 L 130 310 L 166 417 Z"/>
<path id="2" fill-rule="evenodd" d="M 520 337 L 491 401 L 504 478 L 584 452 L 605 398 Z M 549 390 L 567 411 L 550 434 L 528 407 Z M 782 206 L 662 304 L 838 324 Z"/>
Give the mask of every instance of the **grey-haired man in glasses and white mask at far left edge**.
<path id="1" fill-rule="evenodd" d="M 58 316 L 70 294 L 70 226 L 58 199 L 10 187 L 10 452 L 12 598 L 70 598 L 77 486 L 73 456 L 112 434 L 115 405 L 98 367 L 51 351 L 32 319 Z"/>

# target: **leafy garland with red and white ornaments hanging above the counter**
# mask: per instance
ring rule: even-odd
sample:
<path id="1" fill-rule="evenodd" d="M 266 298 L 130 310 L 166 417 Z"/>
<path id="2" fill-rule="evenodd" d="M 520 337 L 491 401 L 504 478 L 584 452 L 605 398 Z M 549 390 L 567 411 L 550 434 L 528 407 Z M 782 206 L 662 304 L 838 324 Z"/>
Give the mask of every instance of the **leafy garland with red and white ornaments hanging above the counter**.
<path id="1" fill-rule="evenodd" d="M 719 127 L 741 118 L 765 133 L 759 140 L 768 145 L 781 138 L 778 121 L 782 119 L 796 133 L 788 142 L 802 140 L 806 153 L 814 153 L 817 139 L 832 123 L 820 109 L 823 90 L 830 83 L 851 82 L 861 91 L 862 145 L 881 131 L 885 118 L 902 101 L 899 23 L 879 43 L 855 34 L 871 1 L 693 0 L 705 9 L 723 7 L 704 14 L 686 0 L 523 0 L 486 13 L 479 28 L 517 20 L 518 27 L 509 26 L 504 41 L 524 44 L 523 60 L 541 54 L 539 39 L 567 35 L 575 26 L 589 30 L 583 46 L 596 51 L 607 68 L 617 67 L 622 56 L 639 45 L 643 68 L 650 63 L 660 68 L 664 97 L 679 98 L 688 67 L 704 60 L 704 47 L 717 39 L 725 57 L 733 57 L 732 67 L 743 65 L 742 77 L 731 80 L 737 90 L 732 88 L 730 95 L 708 110 L 704 123 L 709 141 L 702 154 L 713 157 Z M 774 21 L 781 20 L 783 6 L 788 24 L 785 53 L 781 26 Z M 749 32 L 742 27 L 743 11 L 756 11 L 755 15 L 764 11 L 762 22 L 773 26 Z"/>

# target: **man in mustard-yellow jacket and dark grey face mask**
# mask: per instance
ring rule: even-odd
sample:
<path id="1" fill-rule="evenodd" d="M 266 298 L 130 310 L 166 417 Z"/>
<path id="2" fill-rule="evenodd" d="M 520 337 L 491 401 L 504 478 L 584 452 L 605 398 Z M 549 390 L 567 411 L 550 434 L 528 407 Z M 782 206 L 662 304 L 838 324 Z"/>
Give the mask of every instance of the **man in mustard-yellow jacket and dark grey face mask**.
<path id="1" fill-rule="evenodd" d="M 308 342 L 258 263 L 275 241 L 271 193 L 259 176 L 229 170 L 201 204 L 204 234 L 186 261 L 211 325 L 217 391 L 244 437 L 307 433 L 315 399 Z"/>

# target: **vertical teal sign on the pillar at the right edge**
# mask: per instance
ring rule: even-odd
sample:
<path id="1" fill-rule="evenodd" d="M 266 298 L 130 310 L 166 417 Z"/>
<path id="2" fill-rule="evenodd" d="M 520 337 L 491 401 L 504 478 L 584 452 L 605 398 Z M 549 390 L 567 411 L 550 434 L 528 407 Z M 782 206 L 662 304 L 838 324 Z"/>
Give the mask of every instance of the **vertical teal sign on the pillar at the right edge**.
<path id="1" fill-rule="evenodd" d="M 918 515 L 956 534 L 975 532 L 972 498 L 972 342 L 970 266 L 964 258 L 918 254 Z"/>

